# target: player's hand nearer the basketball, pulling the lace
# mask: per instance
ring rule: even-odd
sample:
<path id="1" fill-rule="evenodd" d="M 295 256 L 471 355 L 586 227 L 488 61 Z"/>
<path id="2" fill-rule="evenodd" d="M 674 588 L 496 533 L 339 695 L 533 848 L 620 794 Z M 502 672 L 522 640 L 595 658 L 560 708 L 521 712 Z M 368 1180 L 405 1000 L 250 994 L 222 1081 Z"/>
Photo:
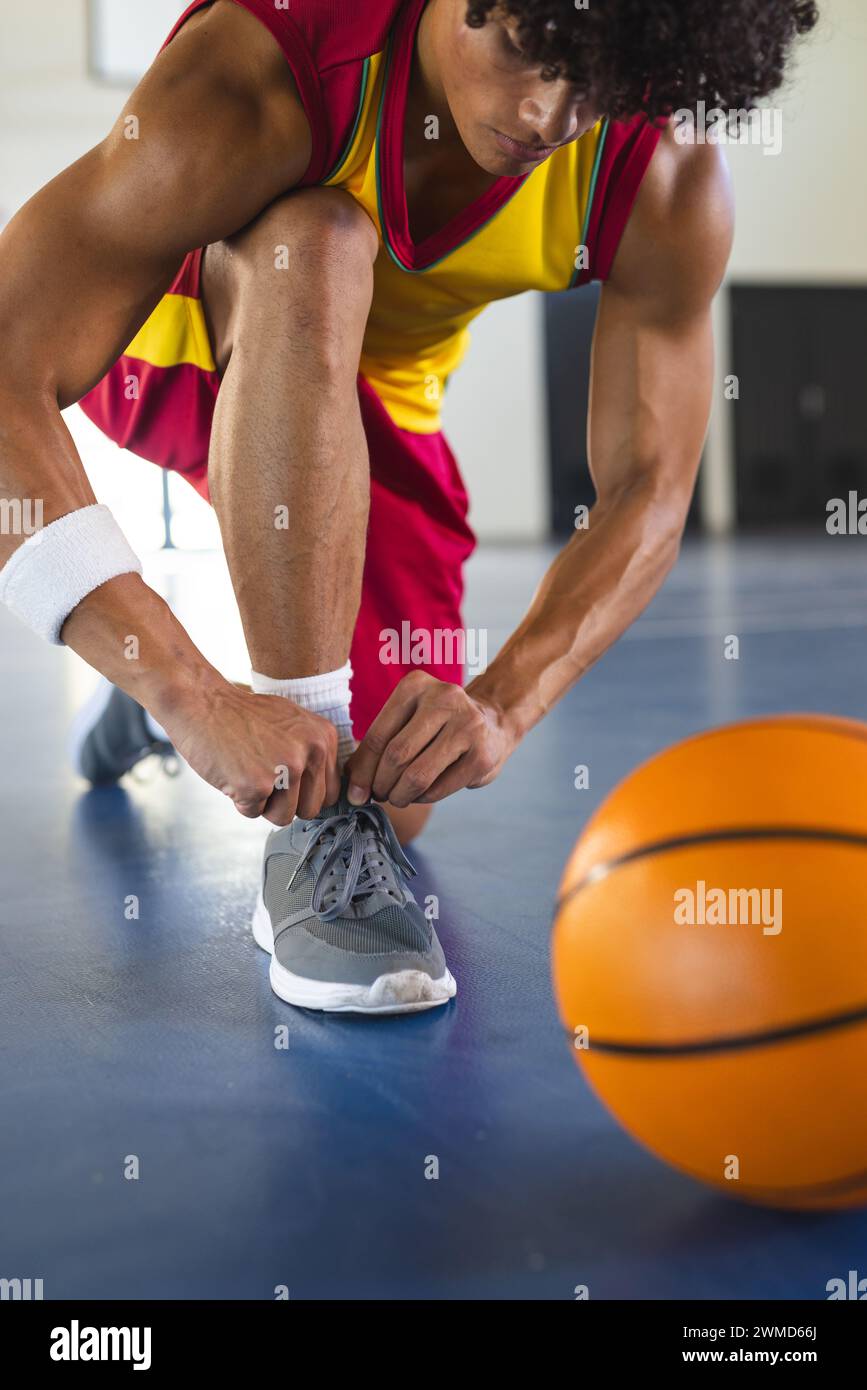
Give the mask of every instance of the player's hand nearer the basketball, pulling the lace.
<path id="1" fill-rule="evenodd" d="M 492 705 L 460 685 L 410 671 L 349 760 L 349 799 L 429 803 L 486 787 L 514 749 Z"/>

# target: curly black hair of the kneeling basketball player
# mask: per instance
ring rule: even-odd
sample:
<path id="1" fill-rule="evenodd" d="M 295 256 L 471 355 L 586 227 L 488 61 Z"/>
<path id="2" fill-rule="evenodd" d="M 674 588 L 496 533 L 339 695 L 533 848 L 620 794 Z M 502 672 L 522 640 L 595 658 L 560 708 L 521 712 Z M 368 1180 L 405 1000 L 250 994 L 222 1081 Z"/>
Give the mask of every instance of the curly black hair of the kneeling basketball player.
<path id="1" fill-rule="evenodd" d="M 814 0 L 468 0 L 467 24 L 492 10 L 517 21 L 529 61 L 592 93 L 624 120 L 681 108 L 749 110 L 781 85 L 791 49 L 818 19 Z"/>

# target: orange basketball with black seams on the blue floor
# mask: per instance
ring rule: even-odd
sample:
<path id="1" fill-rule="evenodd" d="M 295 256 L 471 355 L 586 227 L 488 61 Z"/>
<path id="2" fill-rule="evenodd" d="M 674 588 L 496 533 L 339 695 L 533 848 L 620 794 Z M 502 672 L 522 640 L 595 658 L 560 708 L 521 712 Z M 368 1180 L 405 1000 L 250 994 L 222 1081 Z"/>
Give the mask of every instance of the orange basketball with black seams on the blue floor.
<path id="1" fill-rule="evenodd" d="M 565 867 L 553 974 L 591 1086 L 666 1162 L 867 1204 L 867 726 L 753 720 L 634 771 Z"/>

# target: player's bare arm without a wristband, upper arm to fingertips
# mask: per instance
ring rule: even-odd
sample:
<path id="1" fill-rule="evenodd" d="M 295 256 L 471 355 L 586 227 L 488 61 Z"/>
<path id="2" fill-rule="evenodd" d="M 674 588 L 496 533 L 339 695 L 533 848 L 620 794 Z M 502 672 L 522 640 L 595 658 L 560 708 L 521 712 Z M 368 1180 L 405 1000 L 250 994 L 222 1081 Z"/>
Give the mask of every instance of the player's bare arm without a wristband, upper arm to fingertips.
<path id="1" fill-rule="evenodd" d="M 589 456 L 597 502 L 465 691 L 413 674 L 353 760 L 395 805 L 490 781 L 617 641 L 674 564 L 707 428 L 711 300 L 732 238 L 720 152 L 664 136 L 602 295 Z M 371 737 L 372 735 L 372 737 Z"/>

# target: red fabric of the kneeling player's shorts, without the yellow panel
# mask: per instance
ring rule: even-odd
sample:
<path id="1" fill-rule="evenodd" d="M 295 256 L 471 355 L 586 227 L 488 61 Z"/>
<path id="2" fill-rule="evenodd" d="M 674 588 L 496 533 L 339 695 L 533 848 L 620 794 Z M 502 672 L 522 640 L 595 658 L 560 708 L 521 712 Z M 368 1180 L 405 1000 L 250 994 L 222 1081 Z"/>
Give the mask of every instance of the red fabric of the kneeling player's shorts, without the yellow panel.
<path id="1" fill-rule="evenodd" d="M 189 256 L 171 293 L 199 299 L 200 267 L 201 253 Z M 128 399 L 131 378 L 136 381 L 133 399 Z M 210 500 L 207 459 L 218 392 L 215 371 L 189 361 L 157 367 L 124 356 L 81 406 L 117 445 L 179 473 Z M 361 609 L 350 653 L 353 728 L 363 738 L 397 682 L 414 669 L 393 660 L 410 656 L 411 634 L 427 637 L 417 652 L 425 646 L 432 656 L 460 651 L 457 641 L 435 641 L 435 635 L 463 630 L 463 566 L 475 538 L 445 435 L 397 428 L 363 377 L 358 400 L 371 466 Z M 457 664 L 421 664 L 421 670 L 463 684 Z"/>

